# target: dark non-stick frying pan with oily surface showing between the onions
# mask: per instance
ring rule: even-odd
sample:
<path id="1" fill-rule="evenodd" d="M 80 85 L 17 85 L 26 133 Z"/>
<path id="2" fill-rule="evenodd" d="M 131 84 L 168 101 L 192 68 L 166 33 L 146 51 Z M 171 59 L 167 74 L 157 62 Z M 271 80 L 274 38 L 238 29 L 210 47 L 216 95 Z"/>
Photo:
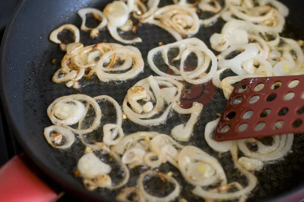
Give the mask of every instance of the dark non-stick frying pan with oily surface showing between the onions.
<path id="1" fill-rule="evenodd" d="M 83 155 L 84 146 L 79 140 L 68 151 L 58 151 L 51 148 L 43 136 L 44 127 L 50 126 L 51 122 L 47 117 L 46 110 L 55 98 L 63 95 L 85 93 L 90 96 L 101 94 L 110 95 L 120 104 L 127 92 L 127 89 L 137 81 L 146 78 L 154 73 L 145 66 L 144 73 L 137 78 L 127 82 L 102 83 L 96 79 L 82 81 L 84 86 L 80 90 L 66 88 L 64 84 L 52 83 L 51 78 L 54 72 L 60 67 L 60 61 L 64 53 L 59 50 L 58 45 L 48 40 L 50 32 L 64 23 L 72 23 L 78 27 L 81 19 L 77 11 L 84 7 L 103 9 L 109 0 L 53 0 L 53 1 L 29 1 L 22 0 L 16 8 L 3 38 L 1 48 L 1 97 L 4 104 L 6 116 L 10 123 L 11 130 L 25 153 L 37 164 L 40 169 L 50 176 L 58 185 L 65 190 L 85 200 L 114 201 L 117 191 L 96 190 L 87 191 L 81 179 L 73 177 L 78 159 Z M 283 1 L 290 9 L 290 16 L 286 24 L 284 37 L 304 39 L 301 30 L 304 15 L 302 8 L 304 2 L 296 0 Z M 170 0 L 161 1 L 161 5 L 172 4 Z M 219 32 L 223 21 L 219 20 L 213 26 L 201 28 L 196 37 L 203 40 L 209 47 L 209 38 L 214 32 Z M 298 28 L 297 28 L 298 27 Z M 146 60 L 150 49 L 158 46 L 159 42 L 164 44 L 174 42 L 169 33 L 153 25 L 144 24 L 138 29 L 134 36 L 141 37 L 142 44 L 137 44 Z M 128 37 L 128 36 L 127 36 Z M 101 31 L 100 36 L 95 39 L 89 38 L 88 32 L 81 32 L 81 42 L 85 45 L 99 42 L 117 43 L 107 31 Z M 55 59 L 53 64 L 51 61 Z M 205 143 L 202 136 L 207 122 L 216 118 L 216 113 L 221 113 L 225 99 L 222 92 L 215 89 L 211 83 L 200 86 L 189 86 L 194 94 L 183 99 L 185 104 L 199 100 L 204 104 L 204 112 L 201 120 L 194 130 L 189 144 L 196 145 L 211 155 L 218 158 Z M 111 117 L 110 112 L 106 117 Z M 105 120 L 110 121 L 110 120 Z M 177 123 L 185 121 L 183 117 L 172 116 L 166 124 L 149 128 L 132 124 L 125 121 L 123 128 L 125 133 L 144 130 L 155 130 L 163 133 L 170 133 L 170 128 Z M 136 127 L 135 127 L 136 126 Z M 274 164 L 268 164 L 263 172 L 257 172 L 259 185 L 249 196 L 249 201 L 296 201 L 304 198 L 304 136 L 295 136 L 292 152 Z M 236 179 L 235 173 L 230 171 L 233 167 L 229 161 L 229 154 L 222 159 L 229 180 Z M 160 171 L 169 171 L 172 168 L 165 165 Z M 232 169 L 233 170 L 233 169 Z M 131 174 L 138 175 L 140 170 L 131 171 Z M 177 172 L 178 173 L 178 172 Z M 176 174 L 178 175 L 178 174 Z M 188 201 L 202 201 L 202 199 L 189 195 L 189 190 L 182 177 L 177 180 L 183 186 L 181 193 Z M 242 179 L 241 179 L 242 180 Z M 134 185 L 134 178 L 130 184 Z M 155 185 L 155 187 L 159 187 Z"/>

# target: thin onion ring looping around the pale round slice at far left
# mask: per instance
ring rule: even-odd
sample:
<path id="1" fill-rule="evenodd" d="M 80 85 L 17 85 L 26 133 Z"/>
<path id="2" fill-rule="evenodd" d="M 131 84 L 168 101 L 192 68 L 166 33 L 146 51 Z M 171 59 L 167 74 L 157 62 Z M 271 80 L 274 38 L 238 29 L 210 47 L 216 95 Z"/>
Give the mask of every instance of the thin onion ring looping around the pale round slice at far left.
<path id="1" fill-rule="evenodd" d="M 84 95 L 84 94 L 74 94 L 74 95 L 68 95 L 68 96 L 63 96 L 63 97 L 59 97 L 57 98 L 49 107 L 47 110 L 48 113 L 48 117 L 50 118 L 50 120 L 52 121 L 53 124 L 55 125 L 62 125 L 65 122 L 63 122 L 61 119 L 58 119 L 55 115 L 55 110 L 56 110 L 56 106 L 58 103 L 62 103 L 62 102 L 71 102 L 71 100 L 78 100 L 78 101 L 85 101 L 87 102 L 87 107 L 89 107 L 90 105 L 94 108 L 95 110 L 95 119 L 94 122 L 92 123 L 92 125 L 87 128 L 87 129 L 74 129 L 68 125 L 65 125 L 65 127 L 69 128 L 71 131 L 73 131 L 74 133 L 77 134 L 86 134 L 89 132 L 92 132 L 94 129 L 96 129 L 99 124 L 100 124 L 100 119 L 101 119 L 101 110 L 98 106 L 98 103 L 95 101 L 95 99 L 93 99 L 92 97 L 88 96 L 88 95 Z M 73 117 L 73 121 L 74 120 L 81 120 L 79 119 L 79 116 L 74 116 L 73 113 L 71 113 L 72 117 Z M 78 114 L 79 115 L 79 114 Z M 85 116 L 85 113 L 82 113 L 83 116 Z M 70 122 L 67 122 L 67 124 Z"/>

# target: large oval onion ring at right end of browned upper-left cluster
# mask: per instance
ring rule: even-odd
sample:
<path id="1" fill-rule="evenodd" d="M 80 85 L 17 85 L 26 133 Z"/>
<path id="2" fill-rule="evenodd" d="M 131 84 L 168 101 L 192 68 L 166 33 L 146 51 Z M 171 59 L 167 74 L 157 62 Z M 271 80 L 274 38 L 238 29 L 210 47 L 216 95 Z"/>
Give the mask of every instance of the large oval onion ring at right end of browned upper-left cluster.
<path id="1" fill-rule="evenodd" d="M 132 64 L 132 67 L 129 67 L 131 69 L 128 72 L 121 73 L 121 74 L 106 73 L 107 71 L 105 71 L 106 68 L 103 67 L 103 64 L 106 62 L 106 60 L 111 55 L 115 55 L 115 54 L 125 54 L 126 57 L 132 57 L 133 64 Z M 140 72 L 142 72 L 143 66 L 144 66 L 144 62 L 143 62 L 141 55 L 138 55 L 137 53 L 135 53 L 129 49 L 119 48 L 119 49 L 114 49 L 112 51 L 109 51 L 102 56 L 102 58 L 97 63 L 96 74 L 101 81 L 127 80 L 127 79 L 134 78 Z"/>

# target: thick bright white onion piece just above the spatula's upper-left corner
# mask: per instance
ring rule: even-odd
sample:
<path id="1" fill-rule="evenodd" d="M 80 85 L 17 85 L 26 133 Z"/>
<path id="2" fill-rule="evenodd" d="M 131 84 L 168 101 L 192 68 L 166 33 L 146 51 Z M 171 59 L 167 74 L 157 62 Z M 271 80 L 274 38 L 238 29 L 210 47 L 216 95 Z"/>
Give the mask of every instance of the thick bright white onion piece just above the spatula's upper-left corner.
<path id="1" fill-rule="evenodd" d="M 233 51 L 242 49 L 245 49 L 245 51 L 240 53 L 236 57 L 232 59 L 225 59 L 225 57 Z M 247 73 L 241 68 L 241 64 L 245 60 L 255 57 L 257 54 L 258 48 L 254 44 L 231 46 L 230 48 L 224 50 L 221 53 L 221 59 L 218 60 L 218 67 L 231 68 L 231 70 L 238 75 L 247 75 Z"/>

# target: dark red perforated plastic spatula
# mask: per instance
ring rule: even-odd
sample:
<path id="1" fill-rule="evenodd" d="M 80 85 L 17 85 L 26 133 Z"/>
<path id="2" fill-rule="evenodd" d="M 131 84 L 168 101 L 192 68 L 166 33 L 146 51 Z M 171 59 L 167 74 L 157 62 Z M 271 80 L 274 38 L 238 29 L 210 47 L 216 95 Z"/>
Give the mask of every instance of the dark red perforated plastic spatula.
<path id="1" fill-rule="evenodd" d="M 304 132 L 304 75 L 247 78 L 228 100 L 216 141 Z"/>

